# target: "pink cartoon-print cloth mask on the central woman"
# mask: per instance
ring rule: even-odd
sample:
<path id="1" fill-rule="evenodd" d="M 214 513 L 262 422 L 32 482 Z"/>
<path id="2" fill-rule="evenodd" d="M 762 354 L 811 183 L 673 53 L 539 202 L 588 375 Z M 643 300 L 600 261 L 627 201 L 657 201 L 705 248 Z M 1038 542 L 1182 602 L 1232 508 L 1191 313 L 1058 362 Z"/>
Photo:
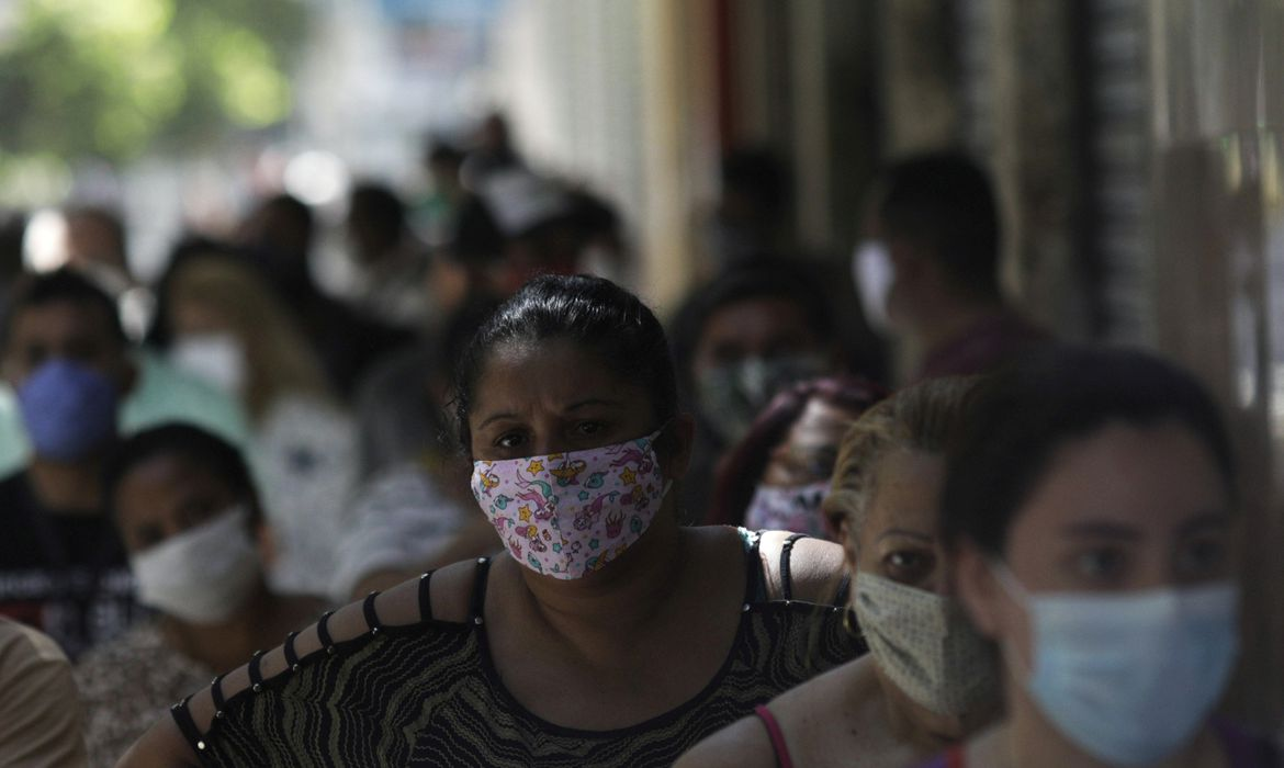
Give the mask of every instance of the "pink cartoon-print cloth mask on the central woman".
<path id="1" fill-rule="evenodd" d="M 660 432 L 587 451 L 475 461 L 473 496 L 517 563 L 582 578 L 619 557 L 660 511 L 670 485 L 652 448 Z"/>

